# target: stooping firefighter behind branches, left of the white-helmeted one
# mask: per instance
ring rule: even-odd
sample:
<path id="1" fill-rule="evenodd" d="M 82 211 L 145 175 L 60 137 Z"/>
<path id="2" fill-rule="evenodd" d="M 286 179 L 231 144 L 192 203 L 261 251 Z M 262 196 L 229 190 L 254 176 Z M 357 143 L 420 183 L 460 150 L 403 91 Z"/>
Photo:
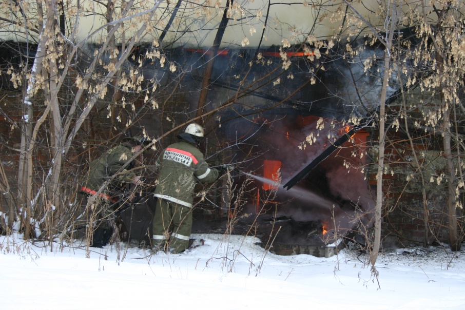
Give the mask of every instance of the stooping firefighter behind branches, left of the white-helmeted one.
<path id="1" fill-rule="evenodd" d="M 86 198 L 98 195 L 91 206 L 87 206 L 87 199 L 83 200 L 83 206 L 86 206 L 86 222 L 97 223 L 93 232 L 92 246 L 102 247 L 109 242 L 114 228 L 112 212 L 118 207 L 115 205 L 117 197 L 124 191 L 126 184 L 143 184 L 141 176 L 131 171 L 142 163 L 138 162 L 137 158 L 132 161 L 131 159 L 148 143 L 145 137 L 127 137 L 123 143 L 110 148 L 100 158 L 90 163 L 89 172 L 80 189 Z M 126 167 L 123 168 L 124 165 Z M 101 188 L 104 185 L 106 186 Z"/>

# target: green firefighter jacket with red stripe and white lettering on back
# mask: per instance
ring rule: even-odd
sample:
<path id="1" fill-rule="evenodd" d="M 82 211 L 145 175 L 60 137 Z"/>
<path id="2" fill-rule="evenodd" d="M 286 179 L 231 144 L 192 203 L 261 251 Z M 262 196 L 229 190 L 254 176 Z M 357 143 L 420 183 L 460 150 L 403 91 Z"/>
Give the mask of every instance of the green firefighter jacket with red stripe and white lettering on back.
<path id="1" fill-rule="evenodd" d="M 219 171 L 209 168 L 203 154 L 186 141 L 168 146 L 157 160 L 158 184 L 154 196 L 180 205 L 191 207 L 197 180 L 212 183 L 218 179 Z"/>

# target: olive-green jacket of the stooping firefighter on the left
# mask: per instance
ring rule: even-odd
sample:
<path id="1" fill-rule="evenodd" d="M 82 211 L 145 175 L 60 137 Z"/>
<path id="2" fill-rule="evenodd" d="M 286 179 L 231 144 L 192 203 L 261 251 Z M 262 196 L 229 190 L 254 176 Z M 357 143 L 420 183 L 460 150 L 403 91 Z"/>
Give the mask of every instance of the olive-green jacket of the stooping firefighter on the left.
<path id="1" fill-rule="evenodd" d="M 84 189 L 81 188 L 81 190 L 89 193 L 92 193 L 91 191 L 98 191 L 118 171 L 118 175 L 108 184 L 106 190 L 104 189 L 103 192 L 119 190 L 124 186 L 124 183 L 131 183 L 135 177 L 135 173 L 128 171 L 132 168 L 132 163 L 121 171 L 120 169 L 132 156 L 133 153 L 130 146 L 118 145 L 110 148 L 102 157 L 90 163 L 89 172 L 82 183 Z"/>

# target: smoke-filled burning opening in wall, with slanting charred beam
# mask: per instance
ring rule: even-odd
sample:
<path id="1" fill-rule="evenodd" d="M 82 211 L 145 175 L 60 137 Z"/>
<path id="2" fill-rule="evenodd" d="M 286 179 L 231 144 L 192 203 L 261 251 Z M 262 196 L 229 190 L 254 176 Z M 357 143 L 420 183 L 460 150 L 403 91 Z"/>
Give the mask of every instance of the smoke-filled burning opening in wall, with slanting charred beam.
<path id="1" fill-rule="evenodd" d="M 324 155 L 349 127 L 315 115 L 276 113 L 222 126 L 229 137 L 247 141 L 240 152 L 231 150 L 233 163 L 242 170 L 233 180 L 253 180 L 247 203 L 237 216 L 256 216 L 258 227 L 263 226 L 258 228 L 263 243 L 273 236 L 272 251 L 317 250 L 318 255 L 328 255 L 328 244 L 371 227 L 374 200 L 366 178 L 369 134 L 359 130 Z M 314 168 L 298 177 L 312 163 Z M 299 180 L 287 188 L 296 176 Z"/>

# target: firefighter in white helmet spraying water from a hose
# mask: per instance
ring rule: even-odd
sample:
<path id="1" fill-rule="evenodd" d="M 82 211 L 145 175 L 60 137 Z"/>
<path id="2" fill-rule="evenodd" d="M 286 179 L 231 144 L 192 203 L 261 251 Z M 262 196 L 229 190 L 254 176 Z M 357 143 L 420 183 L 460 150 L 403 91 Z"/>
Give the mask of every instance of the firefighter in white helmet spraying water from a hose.
<path id="1" fill-rule="evenodd" d="M 169 145 L 157 160 L 158 184 L 154 196 L 158 197 L 153 217 L 152 245 L 154 249 L 181 253 L 189 246 L 192 228 L 193 190 L 197 181 L 212 183 L 220 171 L 209 168 L 197 146 L 204 129 L 189 124 L 178 135 L 180 140 Z"/>

